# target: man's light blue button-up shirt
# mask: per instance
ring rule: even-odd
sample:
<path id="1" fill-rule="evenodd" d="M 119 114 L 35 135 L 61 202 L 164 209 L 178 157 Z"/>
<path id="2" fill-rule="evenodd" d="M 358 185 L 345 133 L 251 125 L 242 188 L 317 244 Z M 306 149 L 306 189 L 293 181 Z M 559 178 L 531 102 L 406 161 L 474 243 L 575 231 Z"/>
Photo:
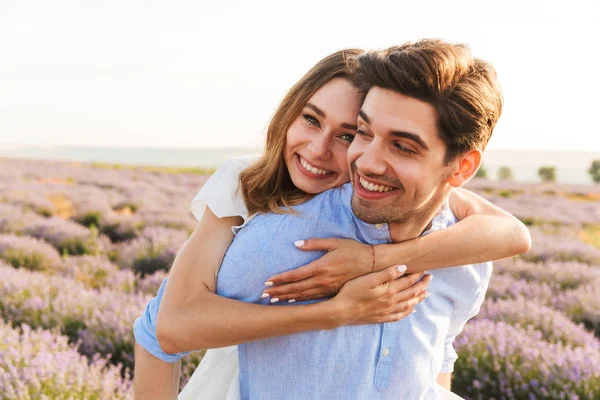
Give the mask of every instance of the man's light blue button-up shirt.
<path id="1" fill-rule="evenodd" d="M 223 259 L 217 293 L 270 304 L 260 298 L 267 278 L 323 255 L 296 249 L 295 240 L 335 237 L 390 243 L 386 224 L 371 225 L 354 216 L 351 196 L 347 184 L 295 206 L 295 214 L 261 214 L 251 219 Z M 445 207 L 432 221 L 431 230 L 455 222 Z M 491 263 L 430 271 L 431 296 L 415 307 L 416 313 L 397 322 L 302 332 L 240 345 L 242 400 L 438 398 L 436 378 L 453 371 L 457 356 L 452 343 L 479 311 L 491 272 Z M 149 316 L 142 320 L 152 323 Z"/>

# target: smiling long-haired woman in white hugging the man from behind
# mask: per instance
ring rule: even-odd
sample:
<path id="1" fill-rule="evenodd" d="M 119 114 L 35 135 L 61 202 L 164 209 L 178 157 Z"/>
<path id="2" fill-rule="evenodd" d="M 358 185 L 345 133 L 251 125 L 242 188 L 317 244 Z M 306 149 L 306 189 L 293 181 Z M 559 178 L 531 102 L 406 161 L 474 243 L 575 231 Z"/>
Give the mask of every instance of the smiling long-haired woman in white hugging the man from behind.
<path id="1" fill-rule="evenodd" d="M 233 240 L 232 227 L 257 213 L 282 212 L 282 206 L 300 204 L 314 194 L 349 180 L 345 152 L 354 135 L 362 96 L 352 84 L 346 58 L 358 53 L 356 50 L 335 53 L 311 69 L 290 90 L 275 113 L 269 126 L 264 156 L 245 170 L 243 165 L 238 164 L 236 169 L 229 163 L 226 169 L 221 169 L 207 182 L 197 196 L 197 200 L 208 203 L 208 209 L 175 260 L 158 318 L 157 336 L 165 351 L 220 347 L 302 330 L 327 329 L 331 322 L 326 316 L 331 314 L 331 310 L 339 310 L 339 307 L 346 307 L 345 310 L 350 312 L 369 309 L 357 305 L 375 305 L 385 297 L 378 287 L 370 286 L 369 275 L 354 278 L 371 270 L 382 270 L 399 260 L 407 264 L 410 272 L 417 272 L 504 258 L 527 251 L 529 236 L 522 224 L 470 192 L 457 190 L 450 203 L 454 213 L 464 220 L 451 228 L 412 243 L 381 245 L 374 249 L 349 240 L 326 240 L 316 245 L 306 243 L 305 250 L 320 248 L 328 250 L 328 253 L 300 272 L 296 271 L 295 276 L 283 274 L 267 282 L 268 286 L 300 280 L 292 285 L 267 289 L 265 296 L 277 295 L 272 302 L 331 296 L 343 286 L 331 300 L 317 303 L 314 307 L 287 307 L 284 311 L 278 310 L 281 307 L 245 304 L 214 295 L 218 266 Z M 235 188 L 236 175 L 241 170 L 240 195 L 235 193 Z M 257 171 L 261 172 L 260 176 L 271 178 L 258 178 Z M 197 213 L 195 215 L 198 217 Z M 468 251 L 460 246 L 464 241 L 470 244 Z M 432 254 L 427 251 L 432 246 L 440 252 Z M 352 251 L 352 259 L 348 259 L 349 250 Z M 201 267 L 196 264 L 201 264 Z M 323 268 L 323 265 L 328 268 Z M 303 279 L 307 276 L 311 278 Z M 420 276 L 402 279 L 406 282 L 405 286 L 410 286 Z M 198 281 L 205 284 L 201 290 L 198 290 Z M 410 289 L 412 291 L 395 296 L 394 299 L 401 304 L 379 307 L 376 315 L 353 315 L 351 322 L 394 321 L 406 316 L 412 306 L 425 296 L 423 291 L 427 283 L 427 278 L 422 279 Z M 396 285 L 396 282 L 388 285 Z M 398 291 L 401 289 L 399 285 L 395 287 Z M 159 296 L 162 296 L 162 289 Z M 390 299 L 384 300 L 389 304 Z M 151 305 L 154 312 L 157 303 Z M 149 322 L 148 331 L 152 335 L 153 321 Z M 141 330 L 138 324 L 138 341 Z M 175 360 L 160 354 L 160 348 L 149 349 L 163 360 Z M 232 354 L 231 350 L 228 351 L 227 354 Z M 203 364 L 213 360 L 212 354 L 216 353 L 209 352 Z M 152 372 L 148 373 L 150 369 Z M 172 398 L 176 393 L 177 376 L 176 365 L 157 361 L 136 345 L 138 395 L 149 393 L 147 390 L 151 388 L 152 398 Z M 161 382 L 170 382 L 171 385 L 159 393 L 157 389 Z"/>

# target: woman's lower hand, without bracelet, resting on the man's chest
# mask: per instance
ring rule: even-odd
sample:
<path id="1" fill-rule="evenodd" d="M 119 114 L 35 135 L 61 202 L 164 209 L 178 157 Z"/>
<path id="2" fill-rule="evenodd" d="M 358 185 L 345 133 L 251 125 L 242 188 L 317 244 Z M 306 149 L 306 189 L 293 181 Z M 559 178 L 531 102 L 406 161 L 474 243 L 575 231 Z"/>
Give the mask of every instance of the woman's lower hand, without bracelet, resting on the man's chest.
<path id="1" fill-rule="evenodd" d="M 347 324 L 363 325 L 398 321 L 414 311 L 428 294 L 431 275 L 401 276 L 406 266 L 394 266 L 346 283 L 329 301 L 338 302 Z M 421 277 L 423 279 L 419 280 Z M 418 282 L 417 282 L 418 281 Z"/>

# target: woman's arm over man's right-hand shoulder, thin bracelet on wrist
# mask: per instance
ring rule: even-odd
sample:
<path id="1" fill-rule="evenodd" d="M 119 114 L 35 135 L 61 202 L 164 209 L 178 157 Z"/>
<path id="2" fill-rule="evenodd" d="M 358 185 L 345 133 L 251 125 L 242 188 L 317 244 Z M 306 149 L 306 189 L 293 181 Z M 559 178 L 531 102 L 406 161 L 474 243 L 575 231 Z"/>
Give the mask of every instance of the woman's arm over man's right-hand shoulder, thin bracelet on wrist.
<path id="1" fill-rule="evenodd" d="M 481 196 L 454 189 L 450 207 L 459 222 L 426 236 L 375 246 L 374 270 L 405 264 L 408 272 L 499 260 L 531 248 L 527 227 L 510 213 Z M 269 278 L 264 292 L 279 300 L 309 300 L 337 293 L 348 280 L 373 268 L 371 246 L 349 239 L 308 239 L 302 250 L 325 250 L 318 260 Z"/>

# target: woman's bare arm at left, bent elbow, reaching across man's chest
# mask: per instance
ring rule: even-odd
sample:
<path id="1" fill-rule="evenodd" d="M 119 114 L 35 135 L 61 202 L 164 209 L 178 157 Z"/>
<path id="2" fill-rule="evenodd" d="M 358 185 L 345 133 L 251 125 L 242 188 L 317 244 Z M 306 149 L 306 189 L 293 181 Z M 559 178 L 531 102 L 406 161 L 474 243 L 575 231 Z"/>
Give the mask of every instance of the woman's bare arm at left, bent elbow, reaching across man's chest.
<path id="1" fill-rule="evenodd" d="M 349 282 L 334 299 L 315 304 L 277 307 L 218 296 L 214 293 L 218 267 L 233 238 L 231 226 L 238 222 L 217 218 L 207 208 L 178 253 L 157 317 L 156 337 L 166 353 L 398 320 L 425 296 L 428 278 L 418 283 L 421 274 L 399 278 L 395 267 Z"/>

